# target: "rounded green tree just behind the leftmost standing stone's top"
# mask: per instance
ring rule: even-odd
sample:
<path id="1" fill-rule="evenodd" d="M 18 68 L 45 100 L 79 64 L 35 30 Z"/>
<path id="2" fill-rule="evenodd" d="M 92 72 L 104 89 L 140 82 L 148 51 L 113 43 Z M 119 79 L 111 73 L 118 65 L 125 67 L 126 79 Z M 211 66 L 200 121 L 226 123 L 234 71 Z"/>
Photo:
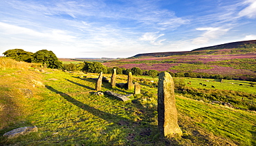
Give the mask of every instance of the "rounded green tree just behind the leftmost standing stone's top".
<path id="1" fill-rule="evenodd" d="M 102 63 L 93 61 L 84 61 L 84 67 L 82 68 L 83 72 L 91 72 L 91 73 L 107 73 L 107 67 L 102 65 Z"/>

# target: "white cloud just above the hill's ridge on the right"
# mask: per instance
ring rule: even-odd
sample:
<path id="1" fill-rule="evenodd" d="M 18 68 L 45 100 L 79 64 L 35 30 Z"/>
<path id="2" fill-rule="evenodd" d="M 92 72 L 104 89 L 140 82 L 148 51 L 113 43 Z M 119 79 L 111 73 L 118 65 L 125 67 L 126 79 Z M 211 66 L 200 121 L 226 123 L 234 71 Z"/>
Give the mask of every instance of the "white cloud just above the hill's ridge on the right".
<path id="1" fill-rule="evenodd" d="M 211 39 L 217 39 L 219 36 L 222 36 L 223 34 L 226 34 L 229 29 L 223 29 L 223 28 L 196 28 L 196 30 L 200 31 L 206 31 L 201 36 L 197 37 L 196 39 L 193 39 L 192 43 L 199 45 L 203 43 L 208 43 Z"/>

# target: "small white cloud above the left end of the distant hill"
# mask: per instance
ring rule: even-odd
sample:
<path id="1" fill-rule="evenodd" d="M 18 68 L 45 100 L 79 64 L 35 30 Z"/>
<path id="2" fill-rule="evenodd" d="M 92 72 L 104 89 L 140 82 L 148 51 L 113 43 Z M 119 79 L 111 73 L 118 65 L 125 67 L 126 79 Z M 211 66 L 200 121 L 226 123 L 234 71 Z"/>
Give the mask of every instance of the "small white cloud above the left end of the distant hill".
<path id="1" fill-rule="evenodd" d="M 165 39 L 158 40 L 159 37 L 165 34 L 158 34 L 159 32 L 146 32 L 140 37 L 140 41 L 149 41 L 152 45 L 162 45 L 162 41 Z"/>

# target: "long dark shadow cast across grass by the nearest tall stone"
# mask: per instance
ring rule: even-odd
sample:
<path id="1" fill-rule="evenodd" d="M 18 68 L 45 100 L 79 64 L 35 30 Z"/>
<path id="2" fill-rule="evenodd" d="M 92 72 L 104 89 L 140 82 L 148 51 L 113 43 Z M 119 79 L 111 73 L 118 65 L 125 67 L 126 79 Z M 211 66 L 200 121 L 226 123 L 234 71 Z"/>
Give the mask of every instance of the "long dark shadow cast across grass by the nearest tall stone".
<path id="1" fill-rule="evenodd" d="M 141 105 L 140 102 L 135 101 L 134 103 L 136 103 L 139 109 L 141 108 L 141 110 L 138 109 L 137 111 L 139 112 L 138 114 L 144 115 L 143 117 L 145 119 L 143 119 L 142 123 L 140 123 L 140 121 L 136 121 L 136 122 L 129 121 L 128 118 L 124 118 L 122 116 L 118 116 L 115 114 L 109 114 L 107 112 L 102 112 L 101 110 L 95 109 L 94 107 L 90 107 L 89 105 L 86 105 L 84 103 L 81 103 L 80 101 L 77 101 L 75 98 L 72 98 L 71 96 L 69 96 L 64 92 L 55 90 L 51 86 L 46 85 L 46 87 L 48 90 L 51 90 L 52 92 L 60 94 L 68 102 L 73 103 L 73 105 L 80 107 L 82 110 L 90 112 L 94 116 L 98 116 L 99 118 L 102 118 L 103 120 L 108 121 L 109 123 L 114 123 L 117 125 L 116 127 L 115 126 L 113 127 L 113 125 L 111 125 L 111 127 L 106 127 L 107 129 L 104 130 L 105 132 L 109 132 L 109 130 L 112 131 L 113 128 L 114 129 L 117 128 L 119 130 L 122 130 L 122 128 L 126 130 L 129 129 L 129 134 L 127 133 L 128 136 L 126 137 L 127 140 L 131 141 L 129 143 L 134 143 L 136 141 L 140 141 L 143 143 L 152 143 L 150 142 L 149 139 L 152 139 L 152 136 L 154 136 L 158 132 L 156 125 L 147 124 L 152 122 L 149 118 L 154 117 L 154 114 L 147 113 L 148 109 L 143 108 L 143 105 Z M 127 107 L 127 108 L 125 107 L 125 110 L 131 110 L 131 107 Z M 122 132 L 125 132 L 125 131 L 122 131 Z M 122 132 L 120 132 L 121 135 L 124 134 Z"/>

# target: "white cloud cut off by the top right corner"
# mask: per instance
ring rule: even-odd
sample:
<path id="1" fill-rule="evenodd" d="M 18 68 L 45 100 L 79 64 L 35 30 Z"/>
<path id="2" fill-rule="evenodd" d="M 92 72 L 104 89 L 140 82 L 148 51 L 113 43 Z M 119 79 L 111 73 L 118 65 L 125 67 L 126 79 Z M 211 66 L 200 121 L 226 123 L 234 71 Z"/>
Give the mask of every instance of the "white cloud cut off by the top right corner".
<path id="1" fill-rule="evenodd" d="M 249 6 L 239 12 L 239 17 L 256 18 L 256 1 L 247 0 L 245 3 Z"/>

